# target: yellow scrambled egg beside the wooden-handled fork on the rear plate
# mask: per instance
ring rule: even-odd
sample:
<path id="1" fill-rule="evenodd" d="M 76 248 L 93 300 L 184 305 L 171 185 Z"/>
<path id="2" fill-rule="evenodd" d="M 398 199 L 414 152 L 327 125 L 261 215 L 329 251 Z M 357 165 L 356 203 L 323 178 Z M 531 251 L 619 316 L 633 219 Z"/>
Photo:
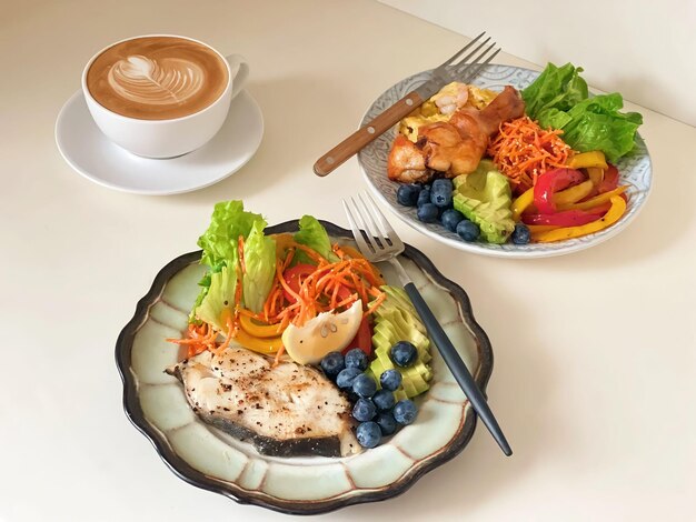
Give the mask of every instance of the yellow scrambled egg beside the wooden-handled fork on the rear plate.
<path id="1" fill-rule="evenodd" d="M 399 122 L 399 132 L 414 143 L 418 140 L 418 129 L 437 121 L 449 121 L 461 107 L 483 109 L 498 96 L 489 89 L 480 89 L 454 81 L 443 87 L 422 106 Z"/>

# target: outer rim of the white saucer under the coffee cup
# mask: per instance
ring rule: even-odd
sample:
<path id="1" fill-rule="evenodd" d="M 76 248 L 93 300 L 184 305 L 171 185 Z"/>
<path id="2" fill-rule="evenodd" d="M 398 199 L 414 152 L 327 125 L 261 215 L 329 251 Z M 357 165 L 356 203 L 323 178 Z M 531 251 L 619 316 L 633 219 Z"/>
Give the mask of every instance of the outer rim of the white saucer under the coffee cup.
<path id="1" fill-rule="evenodd" d="M 256 153 L 258 152 L 259 148 L 261 147 L 261 143 L 264 141 L 264 134 L 266 132 L 266 123 L 265 123 L 265 120 L 264 120 L 264 112 L 261 111 L 261 107 L 256 101 L 256 99 L 251 96 L 251 93 L 249 93 L 249 91 L 247 89 L 242 89 L 241 91 L 239 91 L 239 94 L 236 97 L 235 100 L 239 99 L 240 97 L 243 97 L 247 100 L 247 102 L 253 108 L 253 111 L 258 116 L 258 123 L 259 123 L 259 127 L 260 127 L 258 139 L 253 143 L 253 145 L 249 148 L 249 151 L 247 153 L 248 157 L 241 163 L 239 163 L 235 169 L 232 169 L 230 171 L 227 171 L 227 172 L 225 172 L 222 174 L 219 174 L 219 175 L 215 177 L 213 179 L 208 180 L 205 183 L 199 183 L 199 184 L 191 185 L 191 187 L 188 187 L 188 188 L 185 188 L 185 189 L 133 189 L 133 188 L 130 188 L 128 185 L 105 181 L 103 179 L 101 179 L 101 178 L 95 175 L 93 173 L 87 171 L 80 164 L 78 164 L 76 161 L 73 161 L 71 155 L 64 150 L 66 149 L 64 143 L 61 145 L 62 139 L 60 137 L 59 126 L 60 126 L 61 120 L 63 118 L 66 118 L 64 114 L 71 108 L 71 106 L 73 103 L 78 102 L 80 98 L 82 98 L 82 99 L 84 98 L 84 94 L 82 93 L 82 91 L 80 89 L 78 89 L 70 98 L 68 98 L 66 100 L 66 102 L 62 104 L 62 107 L 60 108 L 60 111 L 58 112 L 58 117 L 56 118 L 56 123 L 53 126 L 53 141 L 56 142 L 56 147 L 58 149 L 58 152 L 60 152 L 60 155 L 62 157 L 63 161 L 66 163 L 68 163 L 68 165 L 73 171 L 76 171 L 82 178 L 91 181 L 92 183 L 96 183 L 96 184 L 98 184 L 100 187 L 103 187 L 106 189 L 115 190 L 117 192 L 123 192 L 123 193 L 130 193 L 130 194 L 139 194 L 139 195 L 177 195 L 177 194 L 185 194 L 185 193 L 189 193 L 189 192 L 195 192 L 197 190 L 201 190 L 201 189 L 211 187 L 211 185 L 213 185 L 216 183 L 219 183 L 220 181 L 222 181 L 222 180 L 229 178 L 230 175 L 237 173 L 249 161 L 251 161 L 251 159 L 256 155 Z M 232 103 L 235 103 L 235 100 L 232 100 Z M 227 118 L 226 118 L 226 121 L 227 121 Z M 97 132 L 100 132 L 98 128 L 97 128 Z M 211 141 L 215 140 L 215 138 L 216 137 L 212 137 Z M 207 144 L 208 143 L 203 144 L 202 147 L 206 147 Z M 192 152 L 196 152 L 196 151 L 192 151 Z M 146 158 L 146 159 L 149 159 L 149 158 Z M 153 161 L 167 161 L 167 159 L 153 160 Z M 192 169 L 195 170 L 196 168 L 192 167 Z"/>

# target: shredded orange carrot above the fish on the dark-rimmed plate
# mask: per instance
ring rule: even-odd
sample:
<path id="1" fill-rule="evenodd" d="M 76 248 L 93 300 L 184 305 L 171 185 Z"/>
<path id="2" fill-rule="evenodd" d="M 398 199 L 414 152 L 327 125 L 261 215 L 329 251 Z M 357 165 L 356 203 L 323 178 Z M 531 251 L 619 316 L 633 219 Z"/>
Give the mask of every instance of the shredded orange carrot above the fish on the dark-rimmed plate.
<path id="1" fill-rule="evenodd" d="M 230 341 L 237 337 L 245 337 L 248 343 L 249 334 L 243 332 L 245 325 L 240 317 L 252 319 L 258 327 L 276 327 L 271 335 L 278 337 L 292 323 L 304 325 L 321 312 L 342 311 L 352 305 L 357 300 L 362 301 L 364 315 L 369 315 L 384 302 L 386 293 L 379 287 L 385 284 L 381 275 L 375 267 L 362 258 L 355 249 L 334 244 L 331 250 L 338 257 L 338 261 L 329 261 L 315 250 L 297 243 L 288 238 L 282 238 L 284 248 L 276 259 L 276 274 L 262 310 L 258 313 L 242 307 L 241 289 L 242 278 L 246 274 L 243 259 L 243 239 L 239 238 L 239 265 L 237 270 L 237 288 L 233 295 L 233 311 L 226 318 L 226 331 L 217 330 L 208 323 L 189 324 L 183 339 L 168 339 L 168 341 L 185 345 L 188 357 L 197 355 L 206 350 L 220 353 Z M 314 263 L 314 271 L 305 273 L 296 288 L 288 284 L 286 270 L 288 270 L 298 251 L 307 254 Z M 290 297 L 291 299 L 288 299 Z M 222 334 L 223 342 L 218 338 Z M 241 341 L 241 338 L 239 339 Z M 267 347 L 264 339 L 252 339 L 259 345 Z M 241 342 L 245 345 L 245 342 Z M 274 350 L 276 351 L 276 350 Z M 277 349 L 277 358 L 284 352 L 282 345 Z"/>

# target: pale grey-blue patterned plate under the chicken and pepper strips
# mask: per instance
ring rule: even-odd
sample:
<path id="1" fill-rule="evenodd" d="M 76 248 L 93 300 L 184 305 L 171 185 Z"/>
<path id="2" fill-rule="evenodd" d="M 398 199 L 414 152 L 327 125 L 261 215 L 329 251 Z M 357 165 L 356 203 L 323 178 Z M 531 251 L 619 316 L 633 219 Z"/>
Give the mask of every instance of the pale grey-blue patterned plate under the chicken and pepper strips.
<path id="1" fill-rule="evenodd" d="M 412 77 L 401 80 L 382 93 L 367 110 L 360 126 L 366 126 L 371 119 L 380 114 L 385 109 L 396 103 L 404 96 L 416 89 L 428 79 L 429 71 L 424 71 Z M 529 69 L 521 69 L 511 66 L 487 66 L 474 81 L 476 86 L 500 91 L 505 86 L 513 86 L 523 89 L 531 83 L 539 76 L 539 72 Z M 391 149 L 391 142 L 396 135 L 396 128 L 391 129 L 358 154 L 358 162 L 362 169 L 365 179 L 371 191 L 402 221 L 422 232 L 424 234 L 448 244 L 459 250 L 474 252 L 483 255 L 494 255 L 499 258 L 547 258 L 551 255 L 563 255 L 578 250 L 594 247 L 624 230 L 638 214 L 645 204 L 650 184 L 653 182 L 653 170 L 650 157 L 643 139 L 638 135 L 636 149 L 628 155 L 622 158 L 617 168 L 620 173 L 620 181 L 630 184 L 628 189 L 629 202 L 626 213 L 622 219 L 608 229 L 554 243 L 530 243 L 530 244 L 489 244 L 483 242 L 467 243 L 459 239 L 456 233 L 449 232 L 438 223 L 424 223 L 416 217 L 416 209 L 402 207 L 396 201 L 396 191 L 399 183 L 387 178 L 387 157 Z"/>

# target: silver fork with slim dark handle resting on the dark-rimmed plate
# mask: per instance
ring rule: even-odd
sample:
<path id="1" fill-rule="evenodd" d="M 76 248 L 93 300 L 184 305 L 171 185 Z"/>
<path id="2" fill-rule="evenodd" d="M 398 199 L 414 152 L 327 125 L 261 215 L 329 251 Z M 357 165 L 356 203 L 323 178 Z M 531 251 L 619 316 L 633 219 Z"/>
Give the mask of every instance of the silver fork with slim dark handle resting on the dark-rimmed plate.
<path id="1" fill-rule="evenodd" d="M 503 452 L 508 456 L 511 455 L 513 450 L 490 411 L 486 398 L 476 385 L 471 373 L 459 357 L 459 353 L 397 259 L 405 250 L 404 242 L 399 239 L 369 194 L 358 194 L 357 199 L 350 198 L 349 201 L 342 200 L 342 203 L 348 223 L 350 224 L 350 230 L 362 255 L 374 263 L 388 261 L 396 269 L 399 280 L 404 285 L 404 290 L 406 290 L 406 293 L 428 330 L 428 335 L 471 403 L 474 411 L 478 414 L 480 420 L 484 421 L 484 424 L 486 424 L 486 428 Z"/>

